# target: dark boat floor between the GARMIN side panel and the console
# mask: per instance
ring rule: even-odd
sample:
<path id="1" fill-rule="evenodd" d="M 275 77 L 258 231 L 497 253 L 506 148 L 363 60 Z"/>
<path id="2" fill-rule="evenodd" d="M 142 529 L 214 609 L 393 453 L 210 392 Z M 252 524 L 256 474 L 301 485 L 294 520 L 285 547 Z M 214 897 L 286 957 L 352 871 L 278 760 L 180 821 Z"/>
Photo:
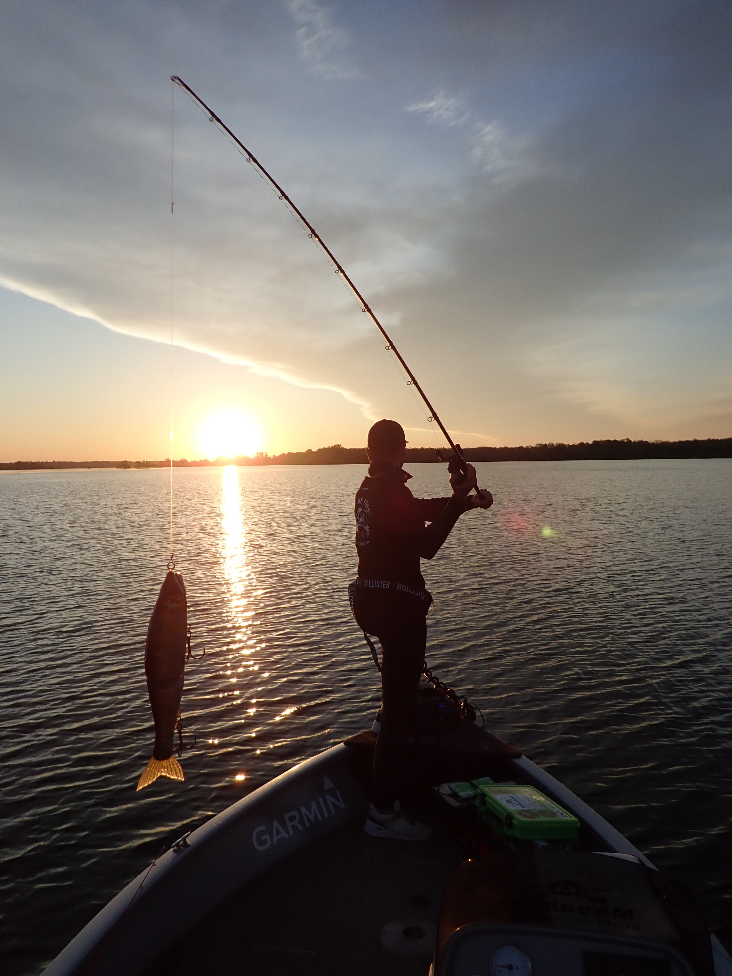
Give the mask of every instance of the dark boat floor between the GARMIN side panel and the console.
<path id="1" fill-rule="evenodd" d="M 427 976 L 442 891 L 465 858 L 446 831 L 405 843 L 347 824 L 243 886 L 148 976 Z"/>

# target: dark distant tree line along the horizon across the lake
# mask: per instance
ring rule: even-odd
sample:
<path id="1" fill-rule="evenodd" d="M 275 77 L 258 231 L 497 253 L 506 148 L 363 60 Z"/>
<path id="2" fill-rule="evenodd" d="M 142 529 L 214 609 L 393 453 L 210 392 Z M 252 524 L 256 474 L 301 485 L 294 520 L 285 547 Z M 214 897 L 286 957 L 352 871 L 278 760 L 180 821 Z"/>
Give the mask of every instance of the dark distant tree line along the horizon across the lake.
<path id="1" fill-rule="evenodd" d="M 732 458 L 732 437 L 706 440 L 593 440 L 579 444 L 533 444 L 527 447 L 467 447 L 468 461 L 641 461 L 662 458 Z M 439 461 L 428 447 L 408 447 L 406 460 L 412 464 Z M 331 444 L 313 451 L 287 451 L 253 458 L 216 458 L 214 461 L 174 461 L 174 468 L 214 468 L 223 465 L 365 465 L 363 447 Z M 165 461 L 15 461 L 0 464 L 0 470 L 58 470 L 61 468 L 167 468 Z"/>

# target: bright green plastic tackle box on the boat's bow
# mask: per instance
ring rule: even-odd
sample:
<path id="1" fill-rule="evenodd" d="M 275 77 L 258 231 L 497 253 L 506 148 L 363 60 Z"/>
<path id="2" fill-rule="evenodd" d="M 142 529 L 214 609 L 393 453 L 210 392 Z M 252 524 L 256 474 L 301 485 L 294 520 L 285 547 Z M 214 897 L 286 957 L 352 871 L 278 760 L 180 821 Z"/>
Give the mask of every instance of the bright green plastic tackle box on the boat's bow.
<path id="1" fill-rule="evenodd" d="M 580 835 L 580 821 L 534 787 L 481 784 L 477 810 L 483 823 L 508 837 L 574 840 Z"/>

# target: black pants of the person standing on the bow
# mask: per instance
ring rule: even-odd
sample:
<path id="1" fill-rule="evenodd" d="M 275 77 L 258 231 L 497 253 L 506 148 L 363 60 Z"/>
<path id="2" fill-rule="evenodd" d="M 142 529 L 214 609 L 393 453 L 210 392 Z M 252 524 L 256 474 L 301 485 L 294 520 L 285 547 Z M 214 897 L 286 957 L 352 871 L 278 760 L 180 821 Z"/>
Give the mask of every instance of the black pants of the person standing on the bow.
<path id="1" fill-rule="evenodd" d="M 382 724 L 374 752 L 372 800 L 392 807 L 405 793 L 407 739 L 414 726 L 417 686 L 427 648 L 426 610 L 408 595 L 357 590 L 353 615 L 361 630 L 376 634 L 382 659 Z"/>

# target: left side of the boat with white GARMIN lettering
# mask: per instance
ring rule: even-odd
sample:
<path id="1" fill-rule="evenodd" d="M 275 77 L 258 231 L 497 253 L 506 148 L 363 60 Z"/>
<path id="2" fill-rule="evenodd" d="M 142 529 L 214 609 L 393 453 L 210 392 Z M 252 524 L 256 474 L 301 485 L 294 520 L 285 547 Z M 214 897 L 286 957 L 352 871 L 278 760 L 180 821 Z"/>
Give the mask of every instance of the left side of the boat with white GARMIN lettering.
<path id="1" fill-rule="evenodd" d="M 368 798 L 347 760 L 346 747 L 334 746 L 193 831 L 178 850 L 166 851 L 120 891 L 54 959 L 46 976 L 142 973 L 241 885 L 365 816 Z"/>

